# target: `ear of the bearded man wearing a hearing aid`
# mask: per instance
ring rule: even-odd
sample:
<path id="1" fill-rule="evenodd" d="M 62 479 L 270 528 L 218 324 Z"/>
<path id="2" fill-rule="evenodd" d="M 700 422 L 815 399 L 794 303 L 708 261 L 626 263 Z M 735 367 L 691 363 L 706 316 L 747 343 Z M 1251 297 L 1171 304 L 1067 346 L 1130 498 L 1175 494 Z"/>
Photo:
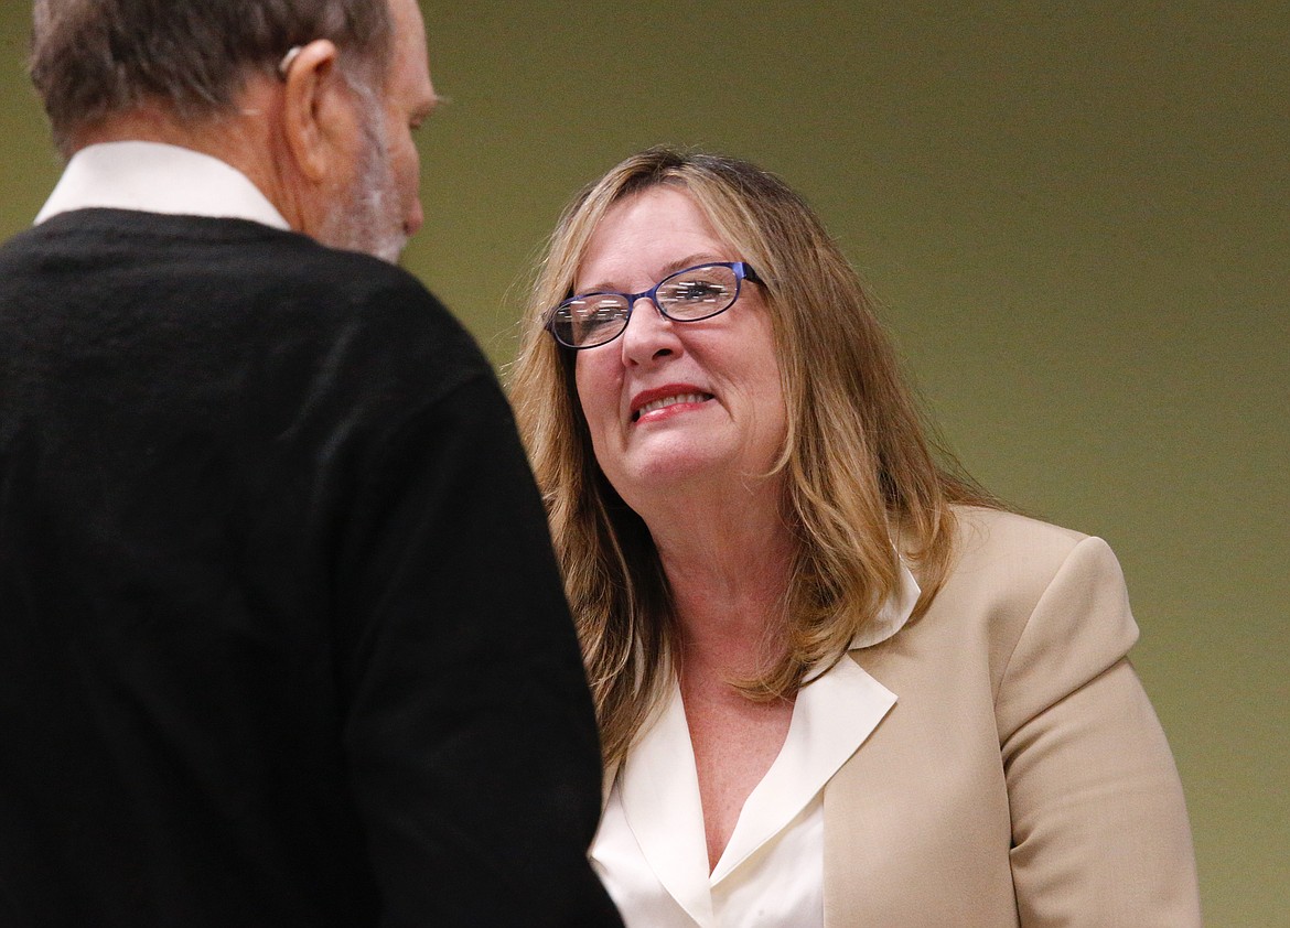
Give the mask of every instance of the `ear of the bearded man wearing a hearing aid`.
<path id="1" fill-rule="evenodd" d="M 283 129 L 301 174 L 321 182 L 353 133 L 353 103 L 335 44 L 316 39 L 283 59 Z"/>

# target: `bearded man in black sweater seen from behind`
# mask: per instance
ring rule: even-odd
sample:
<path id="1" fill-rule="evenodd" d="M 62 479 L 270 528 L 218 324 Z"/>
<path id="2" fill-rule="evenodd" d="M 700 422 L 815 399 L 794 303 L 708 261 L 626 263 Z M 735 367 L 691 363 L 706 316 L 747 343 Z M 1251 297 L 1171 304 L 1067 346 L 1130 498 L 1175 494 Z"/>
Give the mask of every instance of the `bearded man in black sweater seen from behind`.
<path id="1" fill-rule="evenodd" d="M 619 925 L 541 500 L 392 263 L 415 0 L 34 23 L 70 160 L 0 247 L 0 924 Z"/>

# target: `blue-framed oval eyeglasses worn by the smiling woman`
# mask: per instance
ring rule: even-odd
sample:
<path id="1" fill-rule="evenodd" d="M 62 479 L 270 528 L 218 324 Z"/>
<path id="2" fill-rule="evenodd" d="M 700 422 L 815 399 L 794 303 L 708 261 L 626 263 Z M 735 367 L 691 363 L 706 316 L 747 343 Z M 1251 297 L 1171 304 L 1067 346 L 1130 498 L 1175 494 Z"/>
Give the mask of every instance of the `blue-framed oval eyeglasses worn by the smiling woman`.
<path id="1" fill-rule="evenodd" d="M 568 348 L 596 348 L 627 331 L 636 300 L 648 296 L 673 322 L 697 322 L 733 307 L 746 280 L 761 284 L 744 262 L 699 264 L 668 275 L 639 294 L 605 290 L 570 296 L 551 311 L 546 327 Z"/>

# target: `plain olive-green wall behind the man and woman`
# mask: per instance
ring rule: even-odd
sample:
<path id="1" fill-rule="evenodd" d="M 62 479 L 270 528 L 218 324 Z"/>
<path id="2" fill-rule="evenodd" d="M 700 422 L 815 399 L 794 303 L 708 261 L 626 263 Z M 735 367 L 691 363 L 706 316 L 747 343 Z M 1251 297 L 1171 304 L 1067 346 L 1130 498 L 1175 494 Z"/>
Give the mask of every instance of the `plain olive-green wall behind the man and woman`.
<path id="1" fill-rule="evenodd" d="M 969 470 L 1118 553 L 1207 924 L 1290 924 L 1290 4 L 424 9 L 453 103 L 405 263 L 494 361 L 560 209 L 620 157 L 784 175 Z M 6 237 L 58 162 L 27 4 L 0 27 Z"/>

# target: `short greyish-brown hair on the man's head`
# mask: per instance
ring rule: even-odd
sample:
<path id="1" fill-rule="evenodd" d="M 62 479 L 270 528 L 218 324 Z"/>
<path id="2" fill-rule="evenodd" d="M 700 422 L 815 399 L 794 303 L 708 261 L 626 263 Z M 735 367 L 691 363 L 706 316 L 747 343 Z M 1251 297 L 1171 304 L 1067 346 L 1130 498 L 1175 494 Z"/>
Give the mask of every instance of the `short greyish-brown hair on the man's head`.
<path id="1" fill-rule="evenodd" d="M 384 0 L 35 0 L 31 80 L 66 153 L 76 130 L 156 102 L 182 119 L 231 110 L 246 79 L 328 39 L 346 70 L 379 84 Z"/>

